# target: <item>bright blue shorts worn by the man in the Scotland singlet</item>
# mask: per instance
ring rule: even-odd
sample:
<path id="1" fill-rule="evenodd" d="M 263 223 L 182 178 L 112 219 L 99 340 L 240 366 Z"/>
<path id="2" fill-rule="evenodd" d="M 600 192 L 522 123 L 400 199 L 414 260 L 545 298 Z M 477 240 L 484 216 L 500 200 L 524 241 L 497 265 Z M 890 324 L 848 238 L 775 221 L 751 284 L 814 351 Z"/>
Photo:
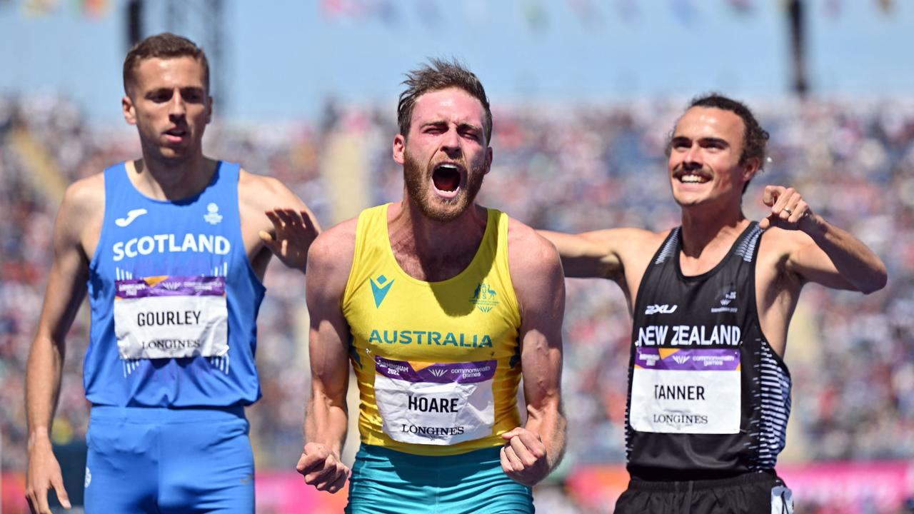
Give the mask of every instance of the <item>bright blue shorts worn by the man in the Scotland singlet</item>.
<path id="1" fill-rule="evenodd" d="M 90 413 L 85 509 L 254 511 L 254 455 L 243 407 L 96 405 Z"/>

